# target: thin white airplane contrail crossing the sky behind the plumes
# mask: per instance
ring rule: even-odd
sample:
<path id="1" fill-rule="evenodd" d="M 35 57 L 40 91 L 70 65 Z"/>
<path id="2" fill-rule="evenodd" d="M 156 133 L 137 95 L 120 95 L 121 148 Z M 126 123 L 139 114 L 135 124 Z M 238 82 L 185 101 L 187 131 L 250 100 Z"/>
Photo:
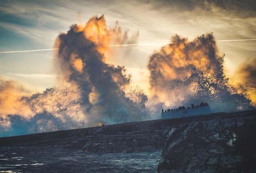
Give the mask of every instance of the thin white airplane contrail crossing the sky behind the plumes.
<path id="1" fill-rule="evenodd" d="M 216 42 L 240 42 L 240 41 L 254 41 L 256 39 L 223 39 L 216 40 Z M 164 45 L 164 44 L 173 44 L 173 42 L 164 42 L 164 43 L 142 43 L 142 44 L 117 44 L 117 45 L 108 45 L 103 47 L 123 47 L 123 46 L 155 46 L 155 45 Z M 17 50 L 17 51 L 6 51 L 0 53 L 25 53 L 25 52 L 37 52 L 37 51 L 46 51 L 46 50 L 58 50 L 54 49 L 36 49 L 36 50 Z"/>

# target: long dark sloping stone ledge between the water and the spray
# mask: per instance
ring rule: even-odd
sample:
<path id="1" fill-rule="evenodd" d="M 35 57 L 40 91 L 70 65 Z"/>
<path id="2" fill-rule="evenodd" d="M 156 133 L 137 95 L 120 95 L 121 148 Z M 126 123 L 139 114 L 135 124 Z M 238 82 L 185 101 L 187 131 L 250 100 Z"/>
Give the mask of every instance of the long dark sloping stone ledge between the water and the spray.
<path id="1" fill-rule="evenodd" d="M 28 134 L 22 136 L 3 137 L 0 138 L 0 146 L 57 145 L 60 147 L 72 147 L 82 149 L 88 143 L 93 143 L 93 141 L 99 143 L 103 139 L 125 140 L 126 138 L 129 138 L 129 140 L 133 141 L 135 139 L 136 141 L 136 138 L 152 137 L 155 140 L 157 140 L 157 144 L 153 142 L 150 143 L 149 145 L 156 146 L 155 148 L 152 149 L 160 149 L 164 145 L 164 141 L 161 141 L 163 137 L 162 132 L 167 127 L 173 125 L 181 125 L 189 123 L 191 121 L 200 122 L 205 120 L 221 120 L 244 116 L 255 116 L 255 114 L 256 110 L 233 113 L 218 113 L 207 116 L 190 116 L 166 120 L 149 120 L 133 123 L 105 125 L 103 127 L 89 127 L 82 129 L 52 131 L 39 134 Z M 133 144 L 131 143 L 129 145 Z"/>

